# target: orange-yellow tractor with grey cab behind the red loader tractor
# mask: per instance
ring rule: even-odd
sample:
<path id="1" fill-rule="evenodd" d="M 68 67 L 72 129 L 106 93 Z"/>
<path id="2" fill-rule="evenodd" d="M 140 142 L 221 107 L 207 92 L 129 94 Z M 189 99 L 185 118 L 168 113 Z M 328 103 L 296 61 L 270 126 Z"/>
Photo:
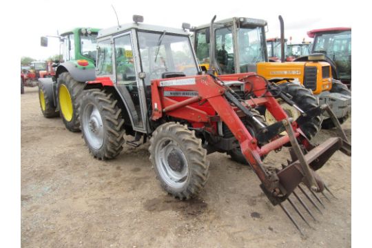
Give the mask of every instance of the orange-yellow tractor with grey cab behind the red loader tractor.
<path id="1" fill-rule="evenodd" d="M 200 61 L 202 70 L 214 71 L 216 74 L 233 74 L 256 72 L 265 79 L 280 84 L 282 91 L 293 96 L 292 101 L 302 110 L 327 103 L 340 123 L 351 114 L 351 92 L 339 90 L 338 82 L 332 80 L 331 66 L 322 61 L 322 54 L 307 56 L 306 62 L 285 62 L 284 24 L 281 19 L 281 36 L 283 51 L 280 57 L 282 63 L 269 62 L 265 26 L 267 22 L 261 19 L 233 17 L 222 21 L 200 25 L 194 30 L 194 49 Z M 211 37 L 215 37 L 212 39 Z M 280 39 L 281 40 L 281 39 Z M 309 89 L 308 91 L 304 87 Z M 312 91 L 312 93 L 311 93 Z M 283 104 L 286 112 L 296 120 L 300 112 L 296 107 Z M 271 114 L 260 108 L 260 113 L 266 115 L 268 123 L 274 121 Z M 334 127 L 331 118 L 316 116 L 303 123 L 302 131 L 308 138 L 314 136 L 320 127 Z M 322 119 L 324 118 L 324 121 Z M 306 127 L 305 127 L 306 125 Z"/>

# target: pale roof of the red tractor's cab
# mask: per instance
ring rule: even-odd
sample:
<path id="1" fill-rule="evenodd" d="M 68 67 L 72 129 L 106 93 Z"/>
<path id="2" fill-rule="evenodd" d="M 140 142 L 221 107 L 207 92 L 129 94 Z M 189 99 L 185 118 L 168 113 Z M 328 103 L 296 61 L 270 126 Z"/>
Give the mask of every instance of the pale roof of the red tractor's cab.
<path id="1" fill-rule="evenodd" d="M 189 34 L 187 30 L 183 30 L 180 28 L 169 28 L 169 27 L 164 27 L 160 25 L 149 25 L 149 24 L 144 24 L 144 23 L 125 23 L 125 24 L 120 25 L 120 27 L 114 26 L 112 28 L 105 28 L 103 30 L 100 30 L 97 38 L 107 37 L 112 34 L 118 34 L 121 32 L 129 31 L 131 29 L 154 31 L 154 32 L 167 31 L 167 33 L 183 34 L 183 35 Z"/>

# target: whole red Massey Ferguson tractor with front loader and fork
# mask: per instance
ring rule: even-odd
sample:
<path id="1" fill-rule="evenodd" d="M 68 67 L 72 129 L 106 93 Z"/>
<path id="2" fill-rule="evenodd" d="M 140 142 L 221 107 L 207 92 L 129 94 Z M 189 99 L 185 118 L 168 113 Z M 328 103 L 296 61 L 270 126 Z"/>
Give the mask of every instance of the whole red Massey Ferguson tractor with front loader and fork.
<path id="1" fill-rule="evenodd" d="M 201 72 L 185 30 L 189 25 L 176 29 L 142 21 L 134 16 L 134 23 L 99 31 L 96 78 L 83 86 L 79 114 L 92 156 L 115 158 L 123 143 L 136 147 L 141 138 L 142 142 L 149 138 L 149 159 L 161 186 L 185 200 L 197 196 L 207 183 L 207 154 L 238 149 L 269 201 L 280 205 L 301 230 L 291 214 L 296 210 L 303 216 L 294 198 L 315 218 L 307 204 L 318 207 L 316 201 L 322 202 L 318 195 L 326 196 L 328 189 L 316 171 L 338 150 L 351 155 L 335 116 L 331 115 L 339 136 L 318 146 L 311 145 L 300 128 L 311 116 L 332 114 L 328 105 L 301 110 L 296 120 L 289 118 L 276 99 L 296 104 L 276 83 L 254 72 L 222 76 Z M 265 123 L 256 110 L 260 106 L 275 123 Z M 124 134 L 133 138 L 125 141 Z M 292 155 L 288 165 L 263 163 L 269 152 L 285 146 Z M 292 211 L 285 202 L 293 205 Z"/>

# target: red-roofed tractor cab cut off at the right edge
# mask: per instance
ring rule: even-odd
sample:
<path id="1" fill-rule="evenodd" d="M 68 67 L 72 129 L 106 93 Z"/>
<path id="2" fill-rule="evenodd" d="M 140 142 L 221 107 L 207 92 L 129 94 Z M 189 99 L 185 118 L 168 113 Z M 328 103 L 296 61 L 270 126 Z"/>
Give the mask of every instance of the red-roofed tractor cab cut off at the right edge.
<path id="1" fill-rule="evenodd" d="M 351 85 L 351 28 L 324 28 L 307 32 L 313 38 L 312 53 L 323 53 L 335 63 L 336 79 Z"/>

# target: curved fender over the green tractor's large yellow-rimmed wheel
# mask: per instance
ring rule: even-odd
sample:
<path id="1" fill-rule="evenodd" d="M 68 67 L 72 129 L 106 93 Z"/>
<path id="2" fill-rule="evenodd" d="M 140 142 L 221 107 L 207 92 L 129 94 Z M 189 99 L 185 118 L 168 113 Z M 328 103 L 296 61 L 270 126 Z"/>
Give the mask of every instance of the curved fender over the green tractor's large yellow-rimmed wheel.
<path id="1" fill-rule="evenodd" d="M 70 72 L 72 79 L 78 82 L 94 81 L 96 79 L 96 71 L 94 67 L 82 67 L 73 61 L 61 63 L 56 70 L 56 77 L 65 71 Z"/>

